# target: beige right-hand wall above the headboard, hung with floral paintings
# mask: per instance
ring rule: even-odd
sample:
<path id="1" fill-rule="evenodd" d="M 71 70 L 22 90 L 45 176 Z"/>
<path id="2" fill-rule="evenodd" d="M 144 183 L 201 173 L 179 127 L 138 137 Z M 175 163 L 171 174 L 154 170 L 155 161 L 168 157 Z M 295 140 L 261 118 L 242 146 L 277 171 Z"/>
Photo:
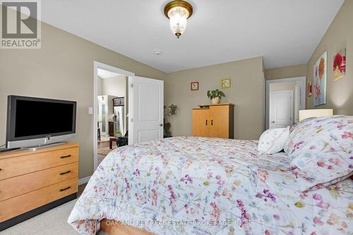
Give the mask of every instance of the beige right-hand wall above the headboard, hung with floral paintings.
<path id="1" fill-rule="evenodd" d="M 346 0 L 311 56 L 307 68 L 307 81 L 313 81 L 316 60 L 328 52 L 327 101 L 328 104 L 313 107 L 313 95 L 307 97 L 308 109 L 333 108 L 334 114 L 353 115 L 353 1 Z M 333 56 L 346 47 L 346 76 L 333 81 Z"/>

